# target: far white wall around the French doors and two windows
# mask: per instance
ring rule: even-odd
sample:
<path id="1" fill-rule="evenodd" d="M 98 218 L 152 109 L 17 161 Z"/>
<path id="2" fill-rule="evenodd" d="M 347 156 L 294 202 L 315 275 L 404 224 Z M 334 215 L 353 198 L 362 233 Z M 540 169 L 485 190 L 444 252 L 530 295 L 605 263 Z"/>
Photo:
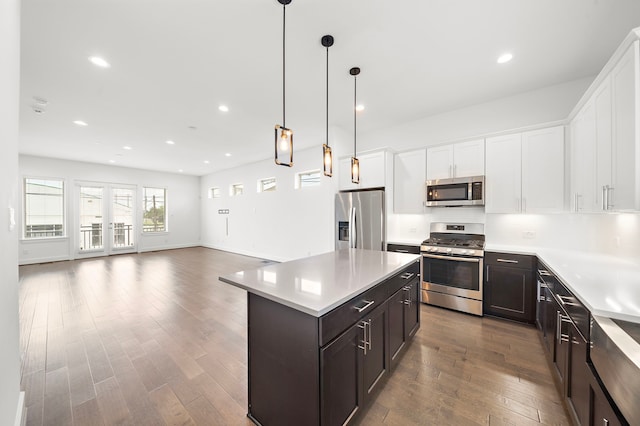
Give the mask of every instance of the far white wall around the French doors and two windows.
<path id="1" fill-rule="evenodd" d="M 200 244 L 200 178 L 182 174 L 153 172 L 148 170 L 115 167 L 78 161 L 21 155 L 19 161 L 21 181 L 24 177 L 61 178 L 65 181 L 65 205 L 67 211 L 64 238 L 45 240 L 20 240 L 19 263 L 38 263 L 68 260 L 81 257 L 77 251 L 78 232 L 75 221 L 78 216 L 76 184 L 78 182 L 104 182 L 135 185 L 137 188 L 137 251 L 163 250 L 191 247 Z M 142 234 L 142 188 L 145 186 L 167 188 L 168 232 Z M 22 233 L 22 205 L 16 212 Z M 84 255 L 86 256 L 86 255 Z"/>

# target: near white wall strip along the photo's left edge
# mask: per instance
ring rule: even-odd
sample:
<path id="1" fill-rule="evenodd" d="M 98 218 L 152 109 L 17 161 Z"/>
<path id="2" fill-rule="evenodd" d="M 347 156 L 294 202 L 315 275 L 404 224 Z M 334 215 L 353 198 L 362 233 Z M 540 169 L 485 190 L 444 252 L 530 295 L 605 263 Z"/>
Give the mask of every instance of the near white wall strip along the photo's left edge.
<path id="1" fill-rule="evenodd" d="M 20 204 L 18 186 L 18 98 L 20 1 L 0 2 L 0 424 L 18 425 L 20 393 L 18 326 L 18 229 L 9 209 Z"/>

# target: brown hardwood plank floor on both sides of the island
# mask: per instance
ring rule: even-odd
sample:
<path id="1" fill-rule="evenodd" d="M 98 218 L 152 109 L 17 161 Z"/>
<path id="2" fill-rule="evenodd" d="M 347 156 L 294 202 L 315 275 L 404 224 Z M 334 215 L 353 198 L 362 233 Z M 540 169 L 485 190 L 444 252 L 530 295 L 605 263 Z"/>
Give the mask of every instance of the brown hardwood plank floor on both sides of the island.
<path id="1" fill-rule="evenodd" d="M 250 425 L 246 293 L 206 248 L 20 267 L 27 425 Z M 422 305 L 362 425 L 569 424 L 535 329 Z"/>

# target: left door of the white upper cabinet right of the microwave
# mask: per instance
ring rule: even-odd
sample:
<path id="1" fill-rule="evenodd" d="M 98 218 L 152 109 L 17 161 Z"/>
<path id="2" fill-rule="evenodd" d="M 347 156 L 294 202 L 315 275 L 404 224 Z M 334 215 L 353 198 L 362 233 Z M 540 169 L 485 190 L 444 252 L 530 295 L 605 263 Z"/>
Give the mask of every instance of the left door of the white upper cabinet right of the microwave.
<path id="1" fill-rule="evenodd" d="M 519 213 L 521 210 L 521 135 L 486 140 L 485 211 Z"/>

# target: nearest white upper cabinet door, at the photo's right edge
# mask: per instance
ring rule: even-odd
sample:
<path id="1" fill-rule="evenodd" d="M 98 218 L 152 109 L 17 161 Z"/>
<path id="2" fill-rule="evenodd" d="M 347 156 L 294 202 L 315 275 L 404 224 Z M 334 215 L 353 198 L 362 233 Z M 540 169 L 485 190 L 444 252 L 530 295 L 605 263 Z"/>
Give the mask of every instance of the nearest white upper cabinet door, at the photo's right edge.
<path id="1" fill-rule="evenodd" d="M 640 65 L 635 41 L 611 72 L 613 101 L 613 189 L 608 204 L 613 210 L 640 209 Z"/>

